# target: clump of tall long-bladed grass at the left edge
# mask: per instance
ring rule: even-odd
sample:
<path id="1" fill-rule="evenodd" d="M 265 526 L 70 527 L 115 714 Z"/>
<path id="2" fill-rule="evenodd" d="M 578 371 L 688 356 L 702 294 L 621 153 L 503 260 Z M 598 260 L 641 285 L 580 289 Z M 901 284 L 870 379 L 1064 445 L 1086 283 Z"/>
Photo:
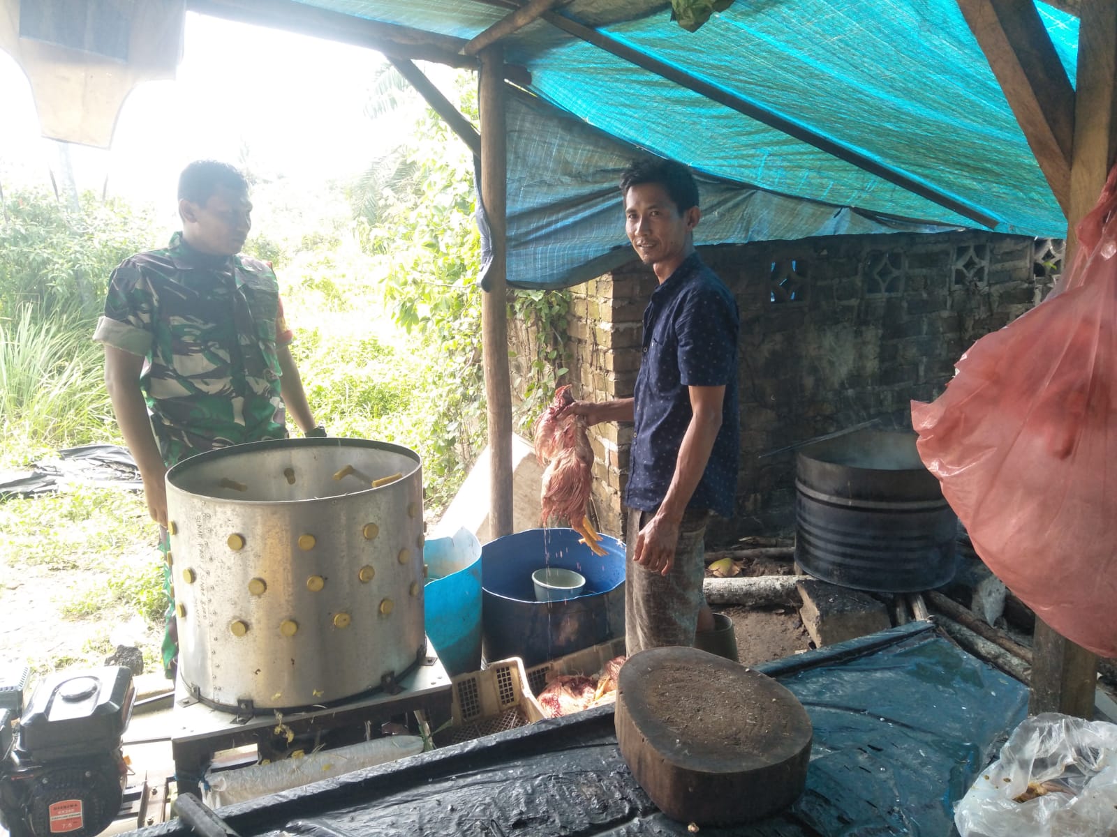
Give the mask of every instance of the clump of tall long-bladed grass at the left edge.
<path id="1" fill-rule="evenodd" d="M 101 346 L 74 314 L 20 306 L 0 320 L 0 449 L 25 462 L 44 451 L 116 435 Z"/>

